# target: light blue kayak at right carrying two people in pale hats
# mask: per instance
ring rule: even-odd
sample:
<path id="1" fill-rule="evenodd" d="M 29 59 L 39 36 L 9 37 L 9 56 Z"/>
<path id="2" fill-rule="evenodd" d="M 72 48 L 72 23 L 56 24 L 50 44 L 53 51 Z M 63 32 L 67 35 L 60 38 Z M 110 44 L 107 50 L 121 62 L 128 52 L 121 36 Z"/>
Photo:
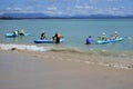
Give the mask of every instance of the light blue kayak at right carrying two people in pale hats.
<path id="1" fill-rule="evenodd" d="M 119 42 L 119 41 L 122 41 L 122 40 L 124 40 L 123 37 L 117 38 L 117 39 L 99 40 L 99 41 L 96 41 L 96 43 L 98 43 L 98 44 L 113 43 L 113 42 Z"/>

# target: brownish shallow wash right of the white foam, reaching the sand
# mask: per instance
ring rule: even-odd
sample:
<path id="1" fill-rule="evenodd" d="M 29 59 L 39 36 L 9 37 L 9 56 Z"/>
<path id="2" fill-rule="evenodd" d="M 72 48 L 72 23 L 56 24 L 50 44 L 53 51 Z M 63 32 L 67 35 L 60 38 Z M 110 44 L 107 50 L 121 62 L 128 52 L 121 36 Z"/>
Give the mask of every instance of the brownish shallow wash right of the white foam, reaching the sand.
<path id="1" fill-rule="evenodd" d="M 68 59 L 62 58 L 62 59 L 68 61 L 83 62 L 88 65 L 99 65 L 104 67 L 113 67 L 116 69 L 133 69 L 132 51 L 110 51 L 110 50 L 95 50 L 95 49 L 84 51 L 78 48 L 62 48 L 62 49 L 53 48 L 51 49 L 51 51 L 69 52 L 73 55 L 71 56 L 65 53 L 65 56 L 70 58 Z"/>

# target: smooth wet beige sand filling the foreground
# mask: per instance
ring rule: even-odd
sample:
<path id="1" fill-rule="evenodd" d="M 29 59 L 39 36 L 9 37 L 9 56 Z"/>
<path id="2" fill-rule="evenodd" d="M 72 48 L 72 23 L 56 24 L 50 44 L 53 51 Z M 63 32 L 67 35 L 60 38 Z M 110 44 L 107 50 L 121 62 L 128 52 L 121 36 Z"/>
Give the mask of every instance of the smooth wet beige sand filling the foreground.
<path id="1" fill-rule="evenodd" d="M 133 69 L 78 62 L 86 57 L 73 52 L 0 50 L 0 89 L 133 88 Z M 99 57 L 90 57 L 94 58 Z"/>

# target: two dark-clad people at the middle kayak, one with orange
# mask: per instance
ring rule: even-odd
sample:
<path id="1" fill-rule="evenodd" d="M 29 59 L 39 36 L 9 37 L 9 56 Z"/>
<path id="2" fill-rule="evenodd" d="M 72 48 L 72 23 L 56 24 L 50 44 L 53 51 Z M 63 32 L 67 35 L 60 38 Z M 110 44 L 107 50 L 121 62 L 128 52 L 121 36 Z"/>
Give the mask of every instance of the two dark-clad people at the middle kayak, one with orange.
<path id="1" fill-rule="evenodd" d="M 47 39 L 44 31 L 42 31 L 40 39 L 41 40 Z M 52 37 L 52 40 L 55 41 L 55 43 L 60 43 L 60 39 L 61 39 L 61 34 L 59 32 L 55 32 L 55 34 Z"/>

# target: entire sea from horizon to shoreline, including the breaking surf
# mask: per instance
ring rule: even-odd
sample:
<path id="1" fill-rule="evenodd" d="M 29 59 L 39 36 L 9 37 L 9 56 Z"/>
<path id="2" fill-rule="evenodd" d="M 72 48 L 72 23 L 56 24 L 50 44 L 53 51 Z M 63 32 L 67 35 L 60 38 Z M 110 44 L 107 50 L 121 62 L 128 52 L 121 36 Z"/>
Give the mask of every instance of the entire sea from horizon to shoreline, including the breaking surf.
<path id="1" fill-rule="evenodd" d="M 8 38 L 6 33 L 16 29 L 24 29 L 27 37 Z M 133 68 L 133 19 L 23 19 L 0 20 L 0 49 L 19 49 L 24 51 L 60 51 L 75 55 L 80 59 L 66 57 L 66 60 L 84 63 L 96 63 L 122 69 Z M 47 38 L 60 32 L 64 41 L 55 43 L 34 43 L 42 31 Z M 99 36 L 105 32 L 110 38 L 114 31 L 124 40 L 114 43 L 96 44 Z M 92 36 L 94 42 L 85 44 L 85 39 Z M 31 52 L 32 53 L 32 52 Z M 58 53 L 58 52 L 57 52 Z M 60 55 L 60 53 L 58 53 Z M 94 58 L 96 56 L 96 58 Z M 89 57 L 89 58 L 88 58 Z M 65 60 L 65 56 L 60 59 Z"/>

